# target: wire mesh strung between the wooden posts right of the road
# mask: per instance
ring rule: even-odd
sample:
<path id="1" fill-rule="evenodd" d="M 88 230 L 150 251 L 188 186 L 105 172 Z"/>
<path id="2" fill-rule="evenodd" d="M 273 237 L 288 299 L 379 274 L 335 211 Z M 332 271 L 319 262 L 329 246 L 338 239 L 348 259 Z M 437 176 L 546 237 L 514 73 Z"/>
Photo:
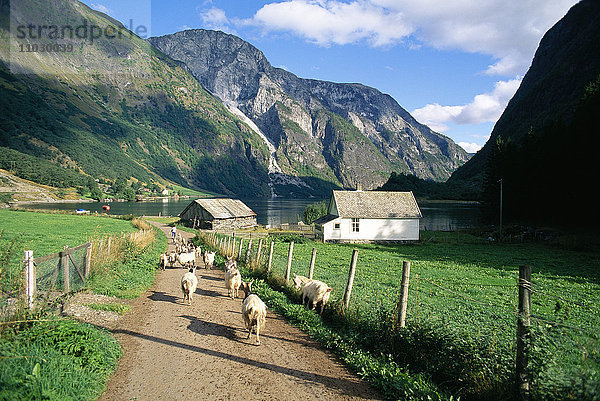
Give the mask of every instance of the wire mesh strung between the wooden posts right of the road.
<path id="1" fill-rule="evenodd" d="M 285 277 L 290 243 L 275 241 L 269 258 L 270 240 L 267 238 L 262 247 L 261 267 L 270 263 L 271 274 Z M 253 241 L 250 252 L 248 245 L 245 241 L 241 254 L 250 255 L 251 260 L 243 261 L 251 263 L 256 257 L 257 241 Z M 314 247 L 318 250 L 313 278 L 332 287 L 332 302 L 340 302 L 352 257 L 348 246 L 295 243 L 290 280 L 294 273 L 309 275 Z M 396 319 L 404 255 L 389 249 L 382 252 L 377 247 L 358 249 L 350 308 L 379 326 L 382 316 Z M 514 369 L 520 317 L 518 283 L 516 268 L 461 271 L 444 268 L 443 263 L 412 261 L 407 327 L 443 328 L 452 338 L 468 340 L 483 349 L 485 355 L 496 358 L 494 363 Z M 528 285 L 531 323 L 526 352 L 531 394 L 538 398 L 544 397 L 541 394 L 563 394 L 593 399 L 593 394 L 600 391 L 600 294 L 594 285 L 581 286 L 576 294 L 561 285 L 553 277 L 534 277 Z"/>

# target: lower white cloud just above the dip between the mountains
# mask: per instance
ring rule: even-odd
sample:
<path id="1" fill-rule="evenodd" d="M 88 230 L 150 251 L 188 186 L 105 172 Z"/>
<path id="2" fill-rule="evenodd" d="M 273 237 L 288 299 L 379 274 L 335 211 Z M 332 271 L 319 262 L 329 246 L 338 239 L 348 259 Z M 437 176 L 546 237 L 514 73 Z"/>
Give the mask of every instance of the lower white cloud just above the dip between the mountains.
<path id="1" fill-rule="evenodd" d="M 496 122 L 520 84 L 521 78 L 498 81 L 492 92 L 475 96 L 469 104 L 459 106 L 442 106 L 438 103 L 428 104 L 413 110 L 411 114 L 418 121 L 438 132 L 447 131 L 448 126 L 446 123 L 449 122 L 454 124 Z"/>

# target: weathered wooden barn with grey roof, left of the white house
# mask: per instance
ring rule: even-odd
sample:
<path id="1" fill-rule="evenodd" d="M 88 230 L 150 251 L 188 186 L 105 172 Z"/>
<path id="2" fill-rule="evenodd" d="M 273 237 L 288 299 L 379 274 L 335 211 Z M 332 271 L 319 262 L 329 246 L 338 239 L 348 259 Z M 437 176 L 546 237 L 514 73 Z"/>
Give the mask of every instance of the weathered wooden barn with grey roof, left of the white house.
<path id="1" fill-rule="evenodd" d="M 257 226 L 256 213 L 239 199 L 196 199 L 179 218 L 196 228 L 232 230 Z"/>

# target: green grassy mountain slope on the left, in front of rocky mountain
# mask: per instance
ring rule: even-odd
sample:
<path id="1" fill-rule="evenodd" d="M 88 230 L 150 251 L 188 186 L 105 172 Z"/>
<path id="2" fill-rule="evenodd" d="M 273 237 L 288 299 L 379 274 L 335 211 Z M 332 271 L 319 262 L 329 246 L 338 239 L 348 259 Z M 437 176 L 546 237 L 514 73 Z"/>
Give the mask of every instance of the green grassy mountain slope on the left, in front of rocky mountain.
<path id="1" fill-rule="evenodd" d="M 270 194 L 264 141 L 179 63 L 78 1 L 0 6 L 0 147 L 94 178 Z"/>

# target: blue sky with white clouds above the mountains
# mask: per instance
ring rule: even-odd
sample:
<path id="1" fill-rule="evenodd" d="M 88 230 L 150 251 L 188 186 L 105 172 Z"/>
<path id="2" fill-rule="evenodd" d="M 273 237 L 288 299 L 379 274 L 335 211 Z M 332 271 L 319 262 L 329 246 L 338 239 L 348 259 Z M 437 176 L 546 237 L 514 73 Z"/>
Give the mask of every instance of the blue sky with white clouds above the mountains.
<path id="1" fill-rule="evenodd" d="M 147 36 L 231 33 L 301 78 L 356 82 L 475 153 L 575 0 L 85 0 Z M 143 32 L 144 30 L 142 30 Z"/>

